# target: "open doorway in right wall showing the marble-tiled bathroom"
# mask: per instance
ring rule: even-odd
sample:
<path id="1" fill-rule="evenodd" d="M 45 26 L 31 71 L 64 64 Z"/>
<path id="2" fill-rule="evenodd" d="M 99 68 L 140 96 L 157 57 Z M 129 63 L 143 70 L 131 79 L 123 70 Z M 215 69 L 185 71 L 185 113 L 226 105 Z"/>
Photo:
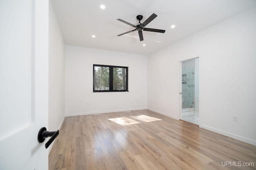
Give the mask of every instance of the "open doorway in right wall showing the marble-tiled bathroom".
<path id="1" fill-rule="evenodd" d="M 180 119 L 199 125 L 199 58 L 180 62 Z"/>

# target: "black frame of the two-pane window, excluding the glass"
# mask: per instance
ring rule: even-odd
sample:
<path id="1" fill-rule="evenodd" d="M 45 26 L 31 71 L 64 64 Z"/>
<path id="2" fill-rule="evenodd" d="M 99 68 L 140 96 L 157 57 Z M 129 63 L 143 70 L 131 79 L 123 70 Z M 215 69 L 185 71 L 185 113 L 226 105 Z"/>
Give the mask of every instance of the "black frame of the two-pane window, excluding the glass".
<path id="1" fill-rule="evenodd" d="M 94 67 L 95 66 L 103 66 L 103 67 L 109 67 L 109 90 L 94 90 L 95 84 L 94 84 Z M 126 90 L 113 90 L 113 68 L 126 68 Z M 102 64 L 93 64 L 93 92 L 129 92 L 128 90 L 128 66 L 112 66 L 112 65 L 102 65 Z"/>

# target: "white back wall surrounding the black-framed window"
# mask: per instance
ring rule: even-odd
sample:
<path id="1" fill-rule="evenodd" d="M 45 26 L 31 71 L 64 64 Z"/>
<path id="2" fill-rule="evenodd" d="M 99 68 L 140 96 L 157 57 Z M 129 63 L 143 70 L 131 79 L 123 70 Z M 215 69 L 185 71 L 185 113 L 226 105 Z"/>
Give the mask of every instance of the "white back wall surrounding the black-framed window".
<path id="1" fill-rule="evenodd" d="M 93 64 L 128 66 L 129 92 L 92 92 Z M 65 81 L 68 116 L 147 108 L 145 55 L 67 45 Z"/>

